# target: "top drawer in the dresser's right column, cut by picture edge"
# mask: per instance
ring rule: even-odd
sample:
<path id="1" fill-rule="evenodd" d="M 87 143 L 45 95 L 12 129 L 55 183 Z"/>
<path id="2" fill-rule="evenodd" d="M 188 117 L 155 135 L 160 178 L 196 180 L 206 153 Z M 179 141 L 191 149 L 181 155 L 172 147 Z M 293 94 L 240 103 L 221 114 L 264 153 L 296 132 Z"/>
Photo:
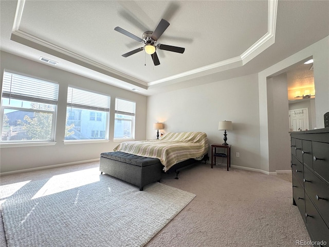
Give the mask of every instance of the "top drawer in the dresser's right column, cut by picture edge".
<path id="1" fill-rule="evenodd" d="M 329 182 L 329 143 L 312 142 L 313 169 Z"/>

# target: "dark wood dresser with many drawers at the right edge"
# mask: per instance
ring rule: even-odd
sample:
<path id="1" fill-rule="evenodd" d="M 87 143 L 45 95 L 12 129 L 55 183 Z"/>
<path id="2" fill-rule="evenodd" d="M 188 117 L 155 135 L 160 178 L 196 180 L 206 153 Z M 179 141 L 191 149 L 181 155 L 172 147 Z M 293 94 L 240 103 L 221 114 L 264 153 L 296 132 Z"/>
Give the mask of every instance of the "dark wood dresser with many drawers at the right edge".
<path id="1" fill-rule="evenodd" d="M 293 203 L 314 246 L 329 246 L 329 128 L 290 136 Z"/>

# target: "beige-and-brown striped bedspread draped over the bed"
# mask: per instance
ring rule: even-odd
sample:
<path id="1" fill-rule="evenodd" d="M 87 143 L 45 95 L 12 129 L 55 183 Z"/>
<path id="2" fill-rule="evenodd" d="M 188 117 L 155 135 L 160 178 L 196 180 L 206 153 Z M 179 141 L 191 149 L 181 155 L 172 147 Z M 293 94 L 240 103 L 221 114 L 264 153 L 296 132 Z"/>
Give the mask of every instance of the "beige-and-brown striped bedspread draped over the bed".
<path id="1" fill-rule="evenodd" d="M 166 133 L 156 140 L 123 142 L 114 151 L 158 158 L 164 171 L 189 158 L 202 158 L 208 152 L 208 138 L 204 132 Z"/>

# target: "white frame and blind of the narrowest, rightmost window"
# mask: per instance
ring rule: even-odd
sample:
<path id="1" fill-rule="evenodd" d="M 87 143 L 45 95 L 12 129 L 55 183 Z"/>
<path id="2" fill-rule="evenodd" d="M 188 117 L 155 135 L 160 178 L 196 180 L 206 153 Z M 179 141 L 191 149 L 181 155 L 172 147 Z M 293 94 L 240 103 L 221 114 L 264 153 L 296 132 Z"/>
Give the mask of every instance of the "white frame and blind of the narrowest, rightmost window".
<path id="1" fill-rule="evenodd" d="M 131 105 L 124 105 L 126 103 L 129 104 L 131 102 Z M 123 103 L 123 104 L 122 104 Z M 133 106 L 133 107 L 132 107 Z M 126 115 L 126 116 L 132 116 L 133 119 L 132 122 L 132 129 L 131 129 L 131 137 L 130 138 L 122 138 L 122 137 L 114 137 L 114 140 L 127 140 L 127 139 L 135 139 L 135 125 L 136 125 L 136 102 L 129 100 L 129 99 L 123 99 L 116 97 L 115 99 L 115 120 L 124 120 L 127 121 L 129 119 L 126 118 L 119 118 L 118 115 Z M 114 133 L 116 130 L 116 126 L 114 123 Z M 114 136 L 115 134 L 113 134 Z"/>

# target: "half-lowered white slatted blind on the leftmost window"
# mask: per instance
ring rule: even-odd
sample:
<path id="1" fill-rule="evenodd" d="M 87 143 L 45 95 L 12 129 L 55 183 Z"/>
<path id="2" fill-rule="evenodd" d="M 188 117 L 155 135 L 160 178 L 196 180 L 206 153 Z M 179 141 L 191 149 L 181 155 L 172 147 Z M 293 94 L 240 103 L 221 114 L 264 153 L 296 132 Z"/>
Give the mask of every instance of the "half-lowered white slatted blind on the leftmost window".
<path id="1" fill-rule="evenodd" d="M 4 72 L 2 97 L 57 105 L 59 85 Z"/>

